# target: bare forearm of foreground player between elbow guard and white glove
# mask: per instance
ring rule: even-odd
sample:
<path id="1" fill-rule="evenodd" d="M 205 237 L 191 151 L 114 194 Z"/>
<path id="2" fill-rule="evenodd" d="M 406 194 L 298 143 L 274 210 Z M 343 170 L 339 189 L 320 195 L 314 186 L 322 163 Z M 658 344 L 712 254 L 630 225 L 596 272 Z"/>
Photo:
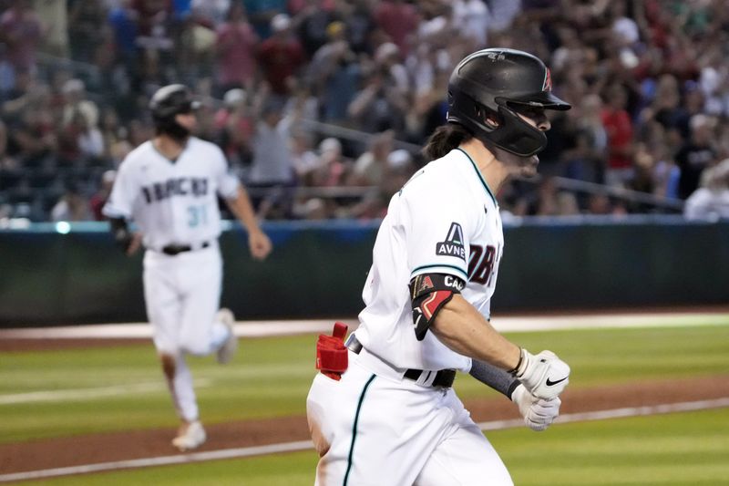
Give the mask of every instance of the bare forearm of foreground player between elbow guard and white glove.
<path id="1" fill-rule="evenodd" d="M 505 370 L 517 367 L 519 346 L 501 336 L 462 295 L 454 295 L 430 330 L 450 349 Z"/>

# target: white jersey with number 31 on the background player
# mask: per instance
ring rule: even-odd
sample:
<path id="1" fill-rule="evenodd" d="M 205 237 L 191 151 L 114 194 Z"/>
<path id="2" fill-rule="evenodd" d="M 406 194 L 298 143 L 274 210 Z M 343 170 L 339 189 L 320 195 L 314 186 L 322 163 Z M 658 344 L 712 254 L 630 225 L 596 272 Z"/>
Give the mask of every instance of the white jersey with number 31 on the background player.
<path id="1" fill-rule="evenodd" d="M 119 166 L 104 214 L 133 219 L 147 248 L 194 245 L 220 235 L 217 195 L 234 198 L 238 184 L 222 151 L 210 142 L 190 137 L 172 161 L 147 141 Z"/>

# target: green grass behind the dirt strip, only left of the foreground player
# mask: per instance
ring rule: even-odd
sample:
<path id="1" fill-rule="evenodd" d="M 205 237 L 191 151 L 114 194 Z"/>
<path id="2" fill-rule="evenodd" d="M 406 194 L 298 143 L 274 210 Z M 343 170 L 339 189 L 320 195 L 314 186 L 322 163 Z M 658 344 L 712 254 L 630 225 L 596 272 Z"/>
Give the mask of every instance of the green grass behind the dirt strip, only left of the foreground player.
<path id="1" fill-rule="evenodd" d="M 226 367 L 211 357 L 191 358 L 206 423 L 302 414 L 315 374 L 313 342 L 313 336 L 245 340 Z M 3 402 L 22 393 L 124 387 L 132 389 L 111 396 Z M 0 416 L 0 443 L 177 426 L 151 343 L 7 353 L 0 359 Z"/>

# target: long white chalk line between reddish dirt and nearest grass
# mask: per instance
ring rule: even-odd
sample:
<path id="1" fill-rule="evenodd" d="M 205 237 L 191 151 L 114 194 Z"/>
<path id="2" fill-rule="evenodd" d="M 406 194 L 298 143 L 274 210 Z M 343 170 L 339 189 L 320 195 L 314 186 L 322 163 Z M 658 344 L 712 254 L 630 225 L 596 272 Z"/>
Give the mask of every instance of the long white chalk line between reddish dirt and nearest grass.
<path id="1" fill-rule="evenodd" d="M 711 400 L 698 400 L 682 403 L 671 403 L 663 405 L 652 405 L 645 407 L 613 408 L 610 410 L 598 410 L 592 412 L 579 412 L 560 415 L 558 421 L 579 422 L 588 420 L 621 419 L 627 417 L 642 417 L 673 412 L 685 412 L 695 410 L 707 410 L 712 408 L 729 407 L 729 397 L 714 398 Z M 492 420 L 477 424 L 482 430 L 501 430 L 522 427 L 522 419 Z M 29 470 L 26 472 L 14 472 L 12 474 L 0 475 L 0 482 L 37 480 L 57 476 L 68 476 L 72 474 L 84 474 L 89 472 L 102 472 L 108 470 L 123 470 L 134 468 L 148 468 L 153 466 L 169 466 L 174 464 L 187 464 L 201 462 L 204 460 L 240 459 L 252 456 L 263 456 L 266 454 L 277 454 L 282 452 L 298 452 L 301 450 L 313 449 L 310 440 L 299 440 L 296 442 L 284 442 L 267 446 L 244 447 L 237 449 L 209 450 L 205 452 L 191 452 L 175 456 L 163 456 L 158 458 L 146 458 L 135 460 L 117 460 L 113 462 L 100 462 L 98 464 L 86 464 L 71 466 L 67 468 L 55 468 L 47 470 Z"/>

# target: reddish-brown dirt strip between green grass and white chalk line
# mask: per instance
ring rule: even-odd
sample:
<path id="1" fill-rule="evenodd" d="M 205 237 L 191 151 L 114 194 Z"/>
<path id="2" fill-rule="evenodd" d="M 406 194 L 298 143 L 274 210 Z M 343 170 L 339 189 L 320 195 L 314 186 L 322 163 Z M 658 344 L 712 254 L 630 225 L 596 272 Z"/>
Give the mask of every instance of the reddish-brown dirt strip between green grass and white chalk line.
<path id="1" fill-rule="evenodd" d="M 568 414 L 642 407 L 727 396 L 729 375 L 650 381 L 627 386 L 568 390 L 563 396 L 561 412 Z M 469 400 L 466 405 L 477 422 L 519 418 L 515 406 L 503 398 Z M 309 439 L 303 416 L 208 424 L 206 429 L 209 439 L 200 451 Z M 131 430 L 3 444 L 0 445 L 0 473 L 169 456 L 176 453 L 169 444 L 174 432 L 174 429 Z"/>

